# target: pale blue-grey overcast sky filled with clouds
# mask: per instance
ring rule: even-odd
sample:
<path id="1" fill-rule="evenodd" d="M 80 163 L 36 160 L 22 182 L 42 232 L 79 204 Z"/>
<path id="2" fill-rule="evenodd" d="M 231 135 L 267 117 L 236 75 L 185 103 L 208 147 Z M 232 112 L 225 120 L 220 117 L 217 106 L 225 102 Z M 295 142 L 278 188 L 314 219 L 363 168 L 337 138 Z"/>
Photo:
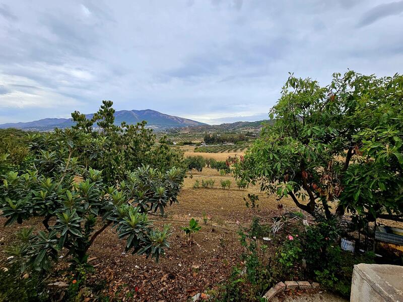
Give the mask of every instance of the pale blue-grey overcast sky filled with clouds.
<path id="1" fill-rule="evenodd" d="M 288 72 L 403 72 L 403 1 L 0 2 L 0 123 L 153 109 L 255 121 Z"/>

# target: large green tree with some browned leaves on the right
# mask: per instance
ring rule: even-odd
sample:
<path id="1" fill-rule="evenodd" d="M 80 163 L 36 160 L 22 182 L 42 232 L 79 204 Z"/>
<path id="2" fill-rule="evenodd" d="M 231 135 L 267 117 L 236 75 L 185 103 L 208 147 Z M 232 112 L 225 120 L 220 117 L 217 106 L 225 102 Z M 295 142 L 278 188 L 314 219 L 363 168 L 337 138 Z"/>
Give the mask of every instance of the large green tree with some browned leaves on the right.
<path id="1" fill-rule="evenodd" d="M 292 74 L 237 178 L 317 216 L 374 219 L 403 210 L 403 77 L 334 73 L 327 87 Z M 333 209 L 333 210 L 332 210 Z"/>

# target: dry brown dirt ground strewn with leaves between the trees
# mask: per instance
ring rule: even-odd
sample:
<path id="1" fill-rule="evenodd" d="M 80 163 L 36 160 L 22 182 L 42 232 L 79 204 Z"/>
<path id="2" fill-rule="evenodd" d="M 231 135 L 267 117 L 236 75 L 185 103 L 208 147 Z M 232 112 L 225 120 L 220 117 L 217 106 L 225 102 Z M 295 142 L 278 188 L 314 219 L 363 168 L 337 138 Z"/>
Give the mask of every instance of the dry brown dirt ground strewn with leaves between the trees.
<path id="1" fill-rule="evenodd" d="M 196 179 L 214 179 L 215 188 L 193 189 Z M 231 179 L 230 189 L 222 189 L 220 180 Z M 161 228 L 164 223 L 172 224 L 171 247 L 166 256 L 156 264 L 143 256 L 125 253 L 125 242 L 117 239 L 114 230 L 108 228 L 97 237 L 89 250 L 95 271 L 88 282 L 95 283 L 106 279 L 104 294 L 126 297 L 133 301 L 186 301 L 189 296 L 226 280 L 232 266 L 239 263 L 242 248 L 237 231 L 240 225 L 250 223 L 253 216 L 261 221 L 271 222 L 278 215 L 274 197 L 259 194 L 259 209 L 245 207 L 243 197 L 247 193 L 258 194 L 257 187 L 239 190 L 235 179 L 220 176 L 216 170 L 205 168 L 201 173 L 193 173 L 193 178 L 184 180 L 179 194 L 179 204 L 167 207 L 167 217 L 154 217 L 155 225 Z M 283 199 L 285 211 L 297 210 L 292 201 Z M 203 224 L 203 212 L 208 222 Z M 189 246 L 180 227 L 188 224 L 191 217 L 198 219 L 201 231 L 194 236 L 194 244 Z M 1 218 L 0 223 L 4 224 Z M 14 240 L 14 234 L 23 226 L 35 225 L 42 228 L 41 219 L 33 218 L 22 225 L 0 228 L 0 261 L 4 263 L 7 254 L 4 249 Z M 61 266 L 67 263 L 61 261 Z M 1 266 L 1 263 L 0 263 Z M 62 281 L 63 278 L 52 280 Z M 50 283 L 50 281 L 49 281 Z M 137 289 L 137 291 L 136 291 Z"/>

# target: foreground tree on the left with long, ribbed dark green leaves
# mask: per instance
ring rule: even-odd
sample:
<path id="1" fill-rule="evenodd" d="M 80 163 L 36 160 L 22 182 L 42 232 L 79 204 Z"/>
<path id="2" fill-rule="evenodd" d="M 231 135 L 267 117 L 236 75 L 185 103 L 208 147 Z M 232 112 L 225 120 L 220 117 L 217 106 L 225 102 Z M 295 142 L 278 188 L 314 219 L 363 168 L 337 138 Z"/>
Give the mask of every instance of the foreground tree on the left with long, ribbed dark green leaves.
<path id="1" fill-rule="evenodd" d="M 114 156 L 125 153 L 112 148 L 127 149 L 130 143 L 148 146 L 143 150 L 150 157 L 142 158 L 147 164 L 158 158 L 161 146 L 154 148 L 141 141 L 150 138 L 147 131 L 142 132 L 141 125 L 130 127 L 120 134 L 124 136 L 121 138 L 117 135 L 121 128 L 112 122 L 108 119 L 102 125 L 103 131 L 96 133 L 87 131 L 91 127 L 85 122 L 85 128 L 30 135 L 29 169 L 10 171 L 2 177 L 1 215 L 7 218 L 7 225 L 43 217 L 46 231 L 33 234 L 22 246 L 12 249 L 23 268 L 28 265 L 46 270 L 63 249 L 76 263 L 83 264 L 88 249 L 109 225 L 120 239 L 126 240 L 126 250 L 133 253 L 158 261 L 164 248 L 169 247 L 169 226 L 155 230 L 148 213 L 164 214 L 167 204 L 177 202 L 185 171 L 167 166 L 159 170 L 139 162 L 139 167 L 134 168 L 128 159 L 121 163 Z M 109 180 L 103 178 L 103 169 L 107 170 L 110 163 L 122 169 L 116 175 L 124 175 L 123 180 L 118 182 L 113 175 Z M 93 165 L 101 169 L 93 169 Z"/>

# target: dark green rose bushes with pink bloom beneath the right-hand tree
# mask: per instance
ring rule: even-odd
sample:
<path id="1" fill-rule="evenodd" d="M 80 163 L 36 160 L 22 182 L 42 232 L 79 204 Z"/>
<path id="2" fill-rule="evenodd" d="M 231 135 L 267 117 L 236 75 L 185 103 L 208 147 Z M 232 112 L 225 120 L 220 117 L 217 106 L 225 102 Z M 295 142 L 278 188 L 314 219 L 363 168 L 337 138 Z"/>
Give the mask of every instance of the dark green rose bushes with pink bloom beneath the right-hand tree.
<path id="1" fill-rule="evenodd" d="M 303 228 L 301 228 L 303 229 Z M 244 266 L 233 267 L 225 284 L 214 294 L 215 301 L 259 301 L 262 293 L 279 281 L 315 280 L 329 291 L 348 298 L 354 264 L 373 263 L 373 254 L 342 251 L 335 241 L 337 229 L 332 222 L 311 225 L 305 233 L 297 229 L 268 254 L 267 246 L 255 238 L 267 234 L 267 227 L 253 218 L 248 235 L 240 232 Z M 305 261 L 304 261 L 305 260 Z M 306 262 L 306 266 L 303 265 Z"/>

